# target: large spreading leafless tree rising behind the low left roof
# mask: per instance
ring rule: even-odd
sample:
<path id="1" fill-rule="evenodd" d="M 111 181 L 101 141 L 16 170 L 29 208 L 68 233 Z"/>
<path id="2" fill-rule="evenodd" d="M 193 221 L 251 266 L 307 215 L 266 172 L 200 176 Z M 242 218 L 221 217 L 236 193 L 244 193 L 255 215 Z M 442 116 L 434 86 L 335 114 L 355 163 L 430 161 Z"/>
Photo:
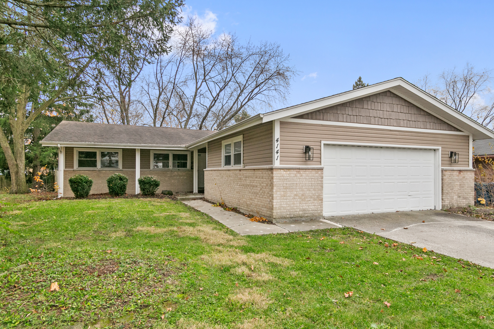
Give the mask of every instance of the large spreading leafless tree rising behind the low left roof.
<path id="1" fill-rule="evenodd" d="M 142 87 L 141 104 L 153 125 L 222 129 L 242 110 L 284 102 L 296 74 L 278 44 L 214 37 L 191 17 L 171 45 Z"/>

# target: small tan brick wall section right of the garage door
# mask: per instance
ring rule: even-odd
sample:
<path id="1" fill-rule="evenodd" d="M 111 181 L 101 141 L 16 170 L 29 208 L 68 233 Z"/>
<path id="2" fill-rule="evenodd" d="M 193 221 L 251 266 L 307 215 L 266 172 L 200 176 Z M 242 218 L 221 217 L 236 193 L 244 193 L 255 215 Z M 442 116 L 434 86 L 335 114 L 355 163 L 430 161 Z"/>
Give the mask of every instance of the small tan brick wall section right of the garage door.
<path id="1" fill-rule="evenodd" d="M 475 198 L 473 170 L 442 170 L 442 208 L 473 205 Z"/>

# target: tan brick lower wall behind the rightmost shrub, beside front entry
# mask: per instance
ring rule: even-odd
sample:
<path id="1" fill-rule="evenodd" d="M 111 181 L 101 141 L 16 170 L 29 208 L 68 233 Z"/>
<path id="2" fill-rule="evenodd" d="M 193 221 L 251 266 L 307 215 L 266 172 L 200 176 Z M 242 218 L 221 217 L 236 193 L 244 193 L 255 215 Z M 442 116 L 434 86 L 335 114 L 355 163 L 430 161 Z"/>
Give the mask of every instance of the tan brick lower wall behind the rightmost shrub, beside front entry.
<path id="1" fill-rule="evenodd" d="M 142 162 L 141 162 L 142 165 Z M 173 192 L 192 192 L 194 190 L 194 171 L 192 170 L 142 170 L 142 176 L 154 176 L 161 184 L 158 193 L 164 189 Z"/>

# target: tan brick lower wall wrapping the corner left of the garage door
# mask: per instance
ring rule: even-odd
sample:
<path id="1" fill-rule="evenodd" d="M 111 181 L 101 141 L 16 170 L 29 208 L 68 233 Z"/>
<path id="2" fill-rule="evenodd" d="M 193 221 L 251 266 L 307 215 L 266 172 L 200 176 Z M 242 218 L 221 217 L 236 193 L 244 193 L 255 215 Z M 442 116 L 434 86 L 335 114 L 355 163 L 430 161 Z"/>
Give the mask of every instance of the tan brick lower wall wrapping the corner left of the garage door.
<path id="1" fill-rule="evenodd" d="M 323 216 L 323 169 L 206 170 L 205 197 L 274 221 Z"/>

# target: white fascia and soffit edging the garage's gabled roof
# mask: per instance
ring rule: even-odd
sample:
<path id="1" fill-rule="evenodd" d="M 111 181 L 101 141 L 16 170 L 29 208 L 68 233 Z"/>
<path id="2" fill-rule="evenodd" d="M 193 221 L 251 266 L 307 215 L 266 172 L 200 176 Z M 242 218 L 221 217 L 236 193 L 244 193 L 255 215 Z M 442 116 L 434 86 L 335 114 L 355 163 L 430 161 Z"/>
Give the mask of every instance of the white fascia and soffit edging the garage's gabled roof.
<path id="1" fill-rule="evenodd" d="M 494 138 L 494 132 L 489 128 L 484 127 L 483 125 L 466 116 L 465 114 L 454 110 L 449 105 L 443 103 L 439 99 L 418 88 L 404 78 L 397 77 L 370 86 L 346 91 L 344 93 L 335 94 L 299 105 L 294 105 L 285 109 L 254 115 L 247 120 L 241 121 L 228 128 L 214 132 L 213 134 L 206 136 L 199 141 L 195 141 L 187 147 L 192 148 L 201 146 L 208 141 L 221 138 L 223 136 L 235 133 L 236 131 L 260 123 L 292 118 L 294 116 L 298 116 L 315 110 L 325 109 L 331 106 L 364 98 L 388 90 L 412 103 L 416 107 L 429 112 L 442 119 L 443 121 L 451 124 L 458 130 L 471 134 L 474 140 Z"/>

